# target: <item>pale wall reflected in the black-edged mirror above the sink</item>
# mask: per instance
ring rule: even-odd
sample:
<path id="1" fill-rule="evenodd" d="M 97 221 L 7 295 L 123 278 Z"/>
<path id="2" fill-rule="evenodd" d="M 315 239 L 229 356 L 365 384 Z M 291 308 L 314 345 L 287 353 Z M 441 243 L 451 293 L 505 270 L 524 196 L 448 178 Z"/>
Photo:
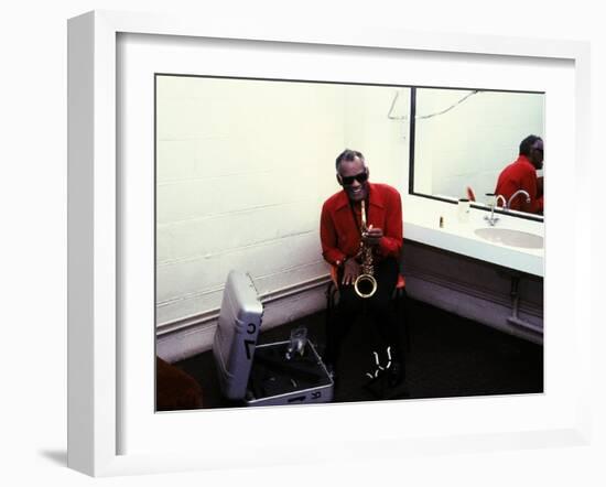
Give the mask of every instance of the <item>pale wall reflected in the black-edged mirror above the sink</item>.
<path id="1" fill-rule="evenodd" d="M 543 139 L 544 94 L 413 88 L 413 194 L 456 202 L 472 188 L 478 204 L 529 134 Z M 537 172 L 542 184 L 542 171 Z"/>

